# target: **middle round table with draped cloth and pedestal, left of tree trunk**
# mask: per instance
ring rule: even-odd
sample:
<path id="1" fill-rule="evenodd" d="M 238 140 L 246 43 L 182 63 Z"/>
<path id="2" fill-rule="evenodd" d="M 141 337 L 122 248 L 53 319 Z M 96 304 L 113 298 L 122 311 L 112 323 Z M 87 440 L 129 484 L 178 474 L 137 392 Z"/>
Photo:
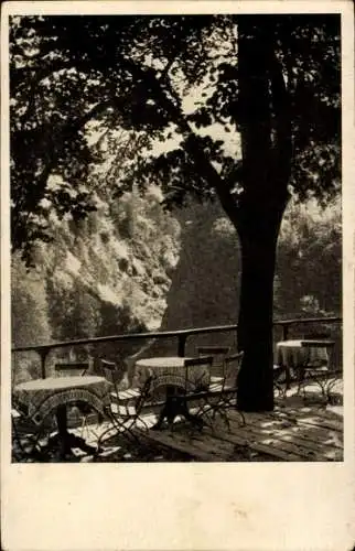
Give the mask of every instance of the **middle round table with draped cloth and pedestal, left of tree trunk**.
<path id="1" fill-rule="evenodd" d="M 153 430 L 160 429 L 165 418 L 171 424 L 178 415 L 201 425 L 201 419 L 190 413 L 185 395 L 196 388 L 208 388 L 209 370 L 207 365 L 190 367 L 186 380 L 185 359 L 187 358 L 169 356 L 142 358 L 136 363 L 136 375 L 140 385 L 151 377 L 151 391 L 159 388 L 165 390 L 165 402 L 158 422 L 152 426 Z"/>

